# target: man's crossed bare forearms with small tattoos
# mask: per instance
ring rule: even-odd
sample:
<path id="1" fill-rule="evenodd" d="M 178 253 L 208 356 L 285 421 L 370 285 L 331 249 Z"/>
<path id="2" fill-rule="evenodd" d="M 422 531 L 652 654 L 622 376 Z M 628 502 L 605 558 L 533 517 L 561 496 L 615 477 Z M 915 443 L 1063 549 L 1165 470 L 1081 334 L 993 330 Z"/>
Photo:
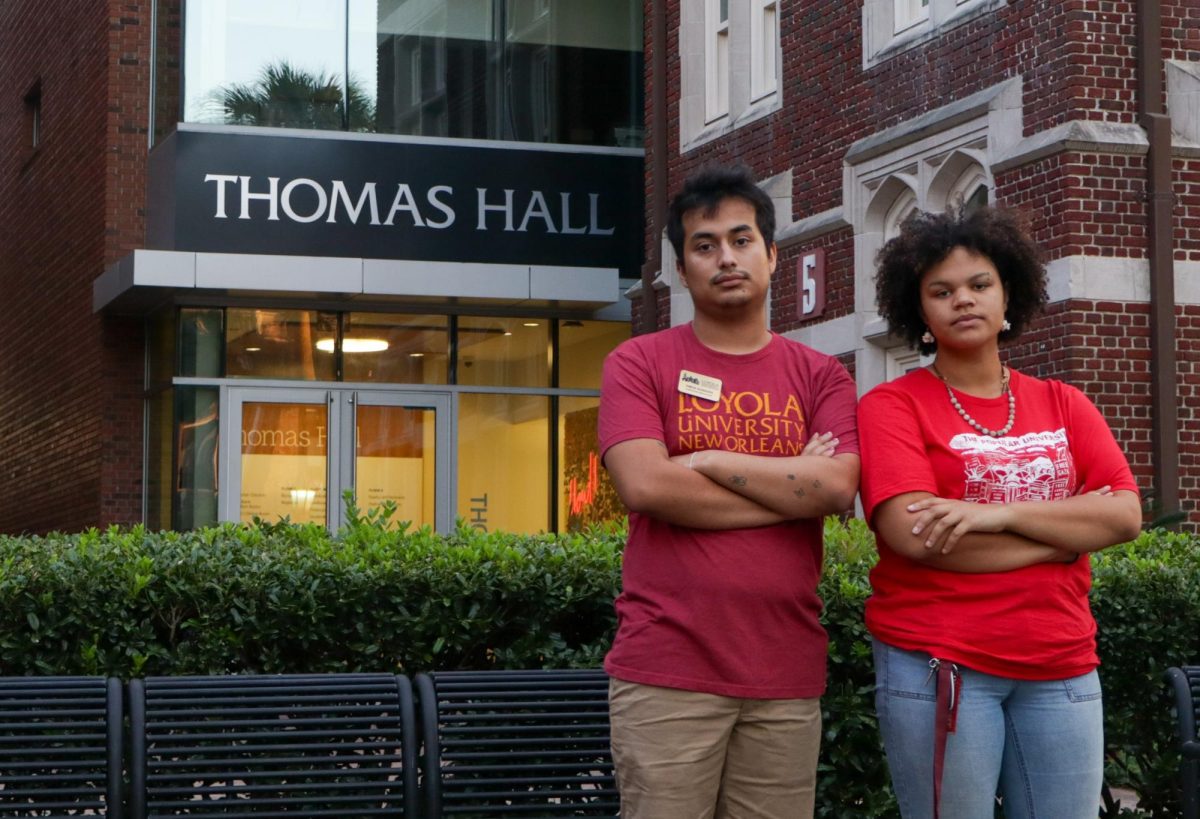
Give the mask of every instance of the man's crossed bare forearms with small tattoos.
<path id="1" fill-rule="evenodd" d="M 674 526 L 728 530 L 848 509 L 858 491 L 858 455 L 835 448 L 824 434 L 791 458 L 719 449 L 671 458 L 662 442 L 634 438 L 613 444 L 604 461 L 630 512 Z"/>

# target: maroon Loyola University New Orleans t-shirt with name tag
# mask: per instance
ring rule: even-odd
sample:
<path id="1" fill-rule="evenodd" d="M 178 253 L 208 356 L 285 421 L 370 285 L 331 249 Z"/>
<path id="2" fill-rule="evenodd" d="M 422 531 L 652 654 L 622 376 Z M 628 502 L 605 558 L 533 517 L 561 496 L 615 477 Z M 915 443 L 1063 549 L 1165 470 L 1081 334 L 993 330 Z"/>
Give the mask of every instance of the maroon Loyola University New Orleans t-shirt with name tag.
<path id="1" fill-rule="evenodd" d="M 721 379 L 709 401 L 682 370 Z M 671 455 L 726 449 L 798 455 L 811 432 L 857 453 L 854 382 L 828 355 L 772 336 L 749 355 L 714 352 L 691 325 L 637 336 L 605 360 L 600 452 L 653 438 Z M 820 697 L 822 521 L 709 531 L 629 515 L 618 628 L 605 659 L 630 682 L 752 699 Z"/>

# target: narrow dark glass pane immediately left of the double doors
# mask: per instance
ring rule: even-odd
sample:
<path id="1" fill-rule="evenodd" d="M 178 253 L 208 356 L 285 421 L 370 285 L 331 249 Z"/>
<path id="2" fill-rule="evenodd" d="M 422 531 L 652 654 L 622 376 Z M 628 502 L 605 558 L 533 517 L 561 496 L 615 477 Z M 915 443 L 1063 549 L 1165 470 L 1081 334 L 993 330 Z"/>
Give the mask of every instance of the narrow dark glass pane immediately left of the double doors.
<path id="1" fill-rule="evenodd" d="M 175 390 L 175 504 L 176 530 L 217 521 L 217 443 L 220 418 L 216 387 Z"/>

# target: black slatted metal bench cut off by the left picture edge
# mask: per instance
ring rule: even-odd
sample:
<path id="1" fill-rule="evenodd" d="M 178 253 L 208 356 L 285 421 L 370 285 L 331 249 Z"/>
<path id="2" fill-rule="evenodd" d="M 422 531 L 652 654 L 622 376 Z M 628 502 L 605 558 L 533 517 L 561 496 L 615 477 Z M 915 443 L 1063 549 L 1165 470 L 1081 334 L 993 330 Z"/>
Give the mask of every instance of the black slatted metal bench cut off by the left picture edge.
<path id="1" fill-rule="evenodd" d="M 121 683 L 0 678 L 0 817 L 121 819 Z"/>

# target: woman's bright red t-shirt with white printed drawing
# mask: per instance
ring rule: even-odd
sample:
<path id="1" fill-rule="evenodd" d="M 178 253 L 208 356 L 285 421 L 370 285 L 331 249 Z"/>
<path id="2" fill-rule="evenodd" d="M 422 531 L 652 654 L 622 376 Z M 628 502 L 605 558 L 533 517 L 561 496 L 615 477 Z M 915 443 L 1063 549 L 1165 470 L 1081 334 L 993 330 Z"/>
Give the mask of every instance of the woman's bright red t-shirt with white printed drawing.
<path id="1" fill-rule="evenodd" d="M 863 508 L 904 492 L 977 503 L 1054 501 L 1109 485 L 1136 492 L 1129 465 L 1099 411 L 1074 387 L 1012 375 L 1016 423 L 1008 435 L 976 432 L 928 370 L 880 384 L 858 407 Z M 1007 397 L 955 393 L 984 426 L 1008 418 Z M 924 651 L 1018 680 L 1057 680 L 1099 664 L 1085 556 L 1014 572 L 931 568 L 888 548 L 876 530 L 866 626 L 899 648 Z"/>

